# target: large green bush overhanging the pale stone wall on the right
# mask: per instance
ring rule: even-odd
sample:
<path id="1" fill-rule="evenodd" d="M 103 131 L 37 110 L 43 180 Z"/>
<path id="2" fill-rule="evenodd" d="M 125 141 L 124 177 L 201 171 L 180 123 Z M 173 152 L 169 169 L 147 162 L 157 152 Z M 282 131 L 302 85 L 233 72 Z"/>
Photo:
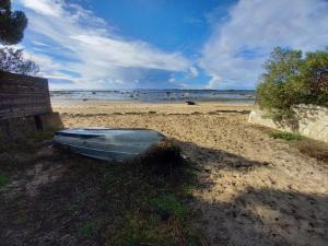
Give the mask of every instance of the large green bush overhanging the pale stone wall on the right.
<path id="1" fill-rule="evenodd" d="M 257 87 L 259 106 L 274 120 L 293 116 L 292 106 L 328 106 L 328 50 L 308 52 L 277 47 L 265 62 Z"/>

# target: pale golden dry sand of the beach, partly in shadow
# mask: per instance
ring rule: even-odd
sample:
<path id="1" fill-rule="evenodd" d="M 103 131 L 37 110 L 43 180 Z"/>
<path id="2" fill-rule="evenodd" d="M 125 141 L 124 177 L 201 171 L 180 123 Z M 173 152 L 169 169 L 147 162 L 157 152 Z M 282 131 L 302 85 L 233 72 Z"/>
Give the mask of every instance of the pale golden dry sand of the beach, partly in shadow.
<path id="1" fill-rule="evenodd" d="M 195 209 L 212 245 L 328 245 L 328 167 L 247 122 L 247 105 L 81 102 L 66 127 L 150 128 L 201 165 Z"/>

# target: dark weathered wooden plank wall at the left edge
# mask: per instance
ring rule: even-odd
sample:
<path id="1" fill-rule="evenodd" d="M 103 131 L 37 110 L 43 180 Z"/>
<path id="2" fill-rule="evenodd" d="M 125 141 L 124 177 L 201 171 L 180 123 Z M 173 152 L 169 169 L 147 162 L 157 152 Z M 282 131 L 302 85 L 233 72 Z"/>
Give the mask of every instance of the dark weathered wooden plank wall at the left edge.
<path id="1" fill-rule="evenodd" d="M 46 79 L 0 72 L 0 119 L 51 112 Z"/>

